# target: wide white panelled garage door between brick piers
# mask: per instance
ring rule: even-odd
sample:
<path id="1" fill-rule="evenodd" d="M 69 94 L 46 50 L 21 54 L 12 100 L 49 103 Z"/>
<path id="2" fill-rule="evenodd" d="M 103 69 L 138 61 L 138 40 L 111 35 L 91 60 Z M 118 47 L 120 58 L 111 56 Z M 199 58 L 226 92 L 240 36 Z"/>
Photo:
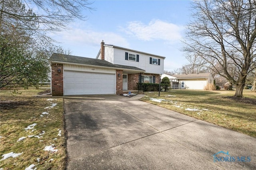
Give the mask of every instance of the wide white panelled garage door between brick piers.
<path id="1" fill-rule="evenodd" d="M 64 95 L 115 94 L 115 74 L 64 71 Z"/>

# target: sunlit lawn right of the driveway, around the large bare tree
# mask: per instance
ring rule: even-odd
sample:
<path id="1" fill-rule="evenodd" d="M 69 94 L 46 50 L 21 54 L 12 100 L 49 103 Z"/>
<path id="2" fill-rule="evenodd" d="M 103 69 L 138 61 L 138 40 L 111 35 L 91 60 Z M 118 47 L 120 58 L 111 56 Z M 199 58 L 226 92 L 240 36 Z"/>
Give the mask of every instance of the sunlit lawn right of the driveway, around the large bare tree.
<path id="1" fill-rule="evenodd" d="M 160 92 L 160 96 L 158 92 L 145 94 L 142 101 L 256 137 L 256 93 L 250 90 L 244 90 L 246 98 L 242 100 L 230 98 L 234 91 L 226 90 L 170 90 Z M 154 102 L 150 98 L 164 100 Z M 188 108 L 194 111 L 186 110 Z"/>

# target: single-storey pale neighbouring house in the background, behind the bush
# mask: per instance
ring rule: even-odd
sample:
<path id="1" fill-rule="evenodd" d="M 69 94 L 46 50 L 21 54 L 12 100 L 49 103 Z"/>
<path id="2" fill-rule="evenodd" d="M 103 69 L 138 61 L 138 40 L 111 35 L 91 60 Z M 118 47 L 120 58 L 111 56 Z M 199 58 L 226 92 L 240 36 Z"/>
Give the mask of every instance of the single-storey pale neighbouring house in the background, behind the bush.
<path id="1" fill-rule="evenodd" d="M 203 90 L 204 86 L 213 83 L 210 73 L 199 74 L 162 74 L 161 78 L 168 77 L 172 84 L 172 89 L 194 89 Z"/>

